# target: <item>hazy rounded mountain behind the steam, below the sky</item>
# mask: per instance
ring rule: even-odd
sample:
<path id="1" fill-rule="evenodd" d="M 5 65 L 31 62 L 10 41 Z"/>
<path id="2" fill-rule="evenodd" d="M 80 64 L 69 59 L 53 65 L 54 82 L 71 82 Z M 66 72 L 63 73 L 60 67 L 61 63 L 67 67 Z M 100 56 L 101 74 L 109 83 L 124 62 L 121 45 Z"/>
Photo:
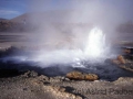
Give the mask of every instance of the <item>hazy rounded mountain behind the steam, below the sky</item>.
<path id="1" fill-rule="evenodd" d="M 88 30 L 92 26 L 91 23 L 80 23 L 79 14 L 74 14 L 71 19 L 70 15 L 74 12 L 70 11 L 45 11 L 45 12 L 29 12 L 11 19 L 12 23 L 20 25 L 19 30 L 45 30 L 48 28 L 54 28 L 58 31 L 70 32 L 72 29 L 84 28 Z M 17 24 L 17 26 L 19 26 Z M 17 28 L 16 28 L 17 29 Z"/>

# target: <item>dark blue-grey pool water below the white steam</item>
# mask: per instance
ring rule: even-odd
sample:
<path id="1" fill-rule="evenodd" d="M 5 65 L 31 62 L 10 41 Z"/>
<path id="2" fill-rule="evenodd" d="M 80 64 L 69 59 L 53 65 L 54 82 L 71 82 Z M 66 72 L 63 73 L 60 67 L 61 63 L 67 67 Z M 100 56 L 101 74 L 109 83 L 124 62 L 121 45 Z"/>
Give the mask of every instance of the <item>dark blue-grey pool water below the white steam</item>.
<path id="1" fill-rule="evenodd" d="M 66 73 L 79 70 L 82 73 L 96 74 L 100 79 L 113 81 L 120 77 L 133 77 L 133 73 L 122 69 L 119 66 L 111 63 L 102 64 L 83 64 L 84 67 L 73 67 L 71 64 L 54 64 L 47 67 L 39 66 L 38 63 L 24 62 L 14 63 L 12 61 L 2 62 L 0 61 L 1 69 L 18 69 L 19 72 L 34 70 L 40 75 L 47 75 L 49 77 L 65 76 Z"/>

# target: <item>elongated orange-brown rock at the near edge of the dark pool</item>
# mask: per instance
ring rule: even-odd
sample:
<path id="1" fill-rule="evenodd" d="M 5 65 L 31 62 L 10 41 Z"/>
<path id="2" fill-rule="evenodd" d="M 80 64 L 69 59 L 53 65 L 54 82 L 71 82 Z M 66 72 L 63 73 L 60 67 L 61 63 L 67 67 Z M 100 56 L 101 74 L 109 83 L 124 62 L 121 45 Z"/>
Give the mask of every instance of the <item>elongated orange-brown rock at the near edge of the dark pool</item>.
<path id="1" fill-rule="evenodd" d="M 95 74 L 84 74 L 80 72 L 72 72 L 68 73 L 66 77 L 70 79 L 78 79 L 78 80 L 98 80 L 99 77 Z"/>

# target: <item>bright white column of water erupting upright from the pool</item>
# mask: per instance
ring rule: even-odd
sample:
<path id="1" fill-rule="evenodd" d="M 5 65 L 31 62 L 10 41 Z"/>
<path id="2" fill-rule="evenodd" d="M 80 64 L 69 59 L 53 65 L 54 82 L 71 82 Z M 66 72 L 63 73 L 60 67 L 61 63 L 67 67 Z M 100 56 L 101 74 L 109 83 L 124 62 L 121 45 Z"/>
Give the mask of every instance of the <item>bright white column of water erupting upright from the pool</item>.
<path id="1" fill-rule="evenodd" d="M 88 58 L 101 58 L 109 50 L 105 44 L 105 34 L 99 28 L 91 30 L 85 44 L 84 54 Z"/>

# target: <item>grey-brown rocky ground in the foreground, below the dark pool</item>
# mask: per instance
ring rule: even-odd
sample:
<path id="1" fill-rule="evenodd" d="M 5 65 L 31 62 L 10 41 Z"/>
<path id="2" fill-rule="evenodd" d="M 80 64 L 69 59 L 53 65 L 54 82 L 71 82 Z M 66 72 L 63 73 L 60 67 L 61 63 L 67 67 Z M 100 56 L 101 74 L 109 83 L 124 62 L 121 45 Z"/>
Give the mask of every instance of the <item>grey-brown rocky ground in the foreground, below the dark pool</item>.
<path id="1" fill-rule="evenodd" d="M 13 72 L 14 73 L 14 72 Z M 9 73 L 9 76 L 12 73 Z M 35 72 L 0 78 L 0 99 L 132 99 L 133 78 L 115 81 L 47 77 Z"/>

